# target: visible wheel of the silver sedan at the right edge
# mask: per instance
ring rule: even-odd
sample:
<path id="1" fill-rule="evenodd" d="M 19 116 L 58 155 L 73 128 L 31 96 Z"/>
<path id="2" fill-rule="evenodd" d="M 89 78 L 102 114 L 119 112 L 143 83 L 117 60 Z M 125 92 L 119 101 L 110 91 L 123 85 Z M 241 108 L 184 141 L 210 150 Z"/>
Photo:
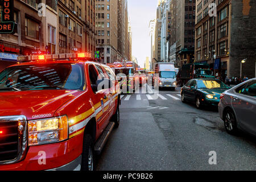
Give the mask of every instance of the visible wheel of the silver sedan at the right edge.
<path id="1" fill-rule="evenodd" d="M 237 134 L 237 121 L 232 110 L 227 110 L 224 116 L 224 126 L 226 131 L 231 135 Z"/>

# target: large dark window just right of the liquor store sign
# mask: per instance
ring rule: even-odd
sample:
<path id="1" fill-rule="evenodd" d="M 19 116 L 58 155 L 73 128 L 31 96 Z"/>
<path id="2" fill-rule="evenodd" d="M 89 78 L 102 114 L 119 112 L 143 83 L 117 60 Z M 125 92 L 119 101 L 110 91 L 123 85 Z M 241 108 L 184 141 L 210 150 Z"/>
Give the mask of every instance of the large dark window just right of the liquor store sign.
<path id="1" fill-rule="evenodd" d="M 39 23 L 25 18 L 25 35 L 39 40 Z"/>

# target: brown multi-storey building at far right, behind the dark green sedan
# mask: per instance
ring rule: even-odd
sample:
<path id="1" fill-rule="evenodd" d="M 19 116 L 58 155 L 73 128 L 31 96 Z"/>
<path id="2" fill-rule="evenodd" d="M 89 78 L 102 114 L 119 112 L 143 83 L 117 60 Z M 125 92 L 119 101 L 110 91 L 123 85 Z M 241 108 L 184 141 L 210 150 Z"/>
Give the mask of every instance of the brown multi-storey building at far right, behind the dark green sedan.
<path id="1" fill-rule="evenodd" d="M 241 61 L 247 59 L 242 76 L 256 76 L 255 39 L 248 39 L 255 30 L 255 5 L 242 0 L 197 1 L 196 62 L 210 64 L 224 80 L 240 76 Z"/>

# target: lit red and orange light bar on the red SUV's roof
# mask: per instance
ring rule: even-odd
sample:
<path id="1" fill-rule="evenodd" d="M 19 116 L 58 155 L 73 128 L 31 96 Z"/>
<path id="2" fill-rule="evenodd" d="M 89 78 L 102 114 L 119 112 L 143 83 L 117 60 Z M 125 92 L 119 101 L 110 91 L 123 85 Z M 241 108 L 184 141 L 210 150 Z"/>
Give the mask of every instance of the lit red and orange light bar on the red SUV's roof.
<path id="1" fill-rule="evenodd" d="M 38 60 L 70 60 L 92 57 L 91 53 L 60 53 L 57 55 L 31 55 L 31 56 L 18 56 L 17 60 L 22 61 L 38 61 Z"/>

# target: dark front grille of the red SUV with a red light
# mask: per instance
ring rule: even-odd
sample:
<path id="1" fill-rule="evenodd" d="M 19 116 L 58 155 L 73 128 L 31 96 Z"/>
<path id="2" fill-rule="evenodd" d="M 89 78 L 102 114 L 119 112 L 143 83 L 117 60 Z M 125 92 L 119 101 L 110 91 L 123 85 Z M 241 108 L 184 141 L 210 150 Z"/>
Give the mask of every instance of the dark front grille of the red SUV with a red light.
<path id="1" fill-rule="evenodd" d="M 18 156 L 18 122 L 0 122 L 0 162 Z"/>

